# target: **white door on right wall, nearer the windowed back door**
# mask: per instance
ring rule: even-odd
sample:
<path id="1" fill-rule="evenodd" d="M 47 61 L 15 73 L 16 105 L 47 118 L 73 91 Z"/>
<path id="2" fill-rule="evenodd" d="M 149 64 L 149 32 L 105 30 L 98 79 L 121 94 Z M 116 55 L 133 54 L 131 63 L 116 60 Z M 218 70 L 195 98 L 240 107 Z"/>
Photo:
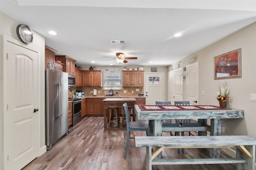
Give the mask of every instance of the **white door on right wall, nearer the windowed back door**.
<path id="1" fill-rule="evenodd" d="M 169 72 L 168 75 L 168 101 L 183 101 L 183 68 Z"/>

